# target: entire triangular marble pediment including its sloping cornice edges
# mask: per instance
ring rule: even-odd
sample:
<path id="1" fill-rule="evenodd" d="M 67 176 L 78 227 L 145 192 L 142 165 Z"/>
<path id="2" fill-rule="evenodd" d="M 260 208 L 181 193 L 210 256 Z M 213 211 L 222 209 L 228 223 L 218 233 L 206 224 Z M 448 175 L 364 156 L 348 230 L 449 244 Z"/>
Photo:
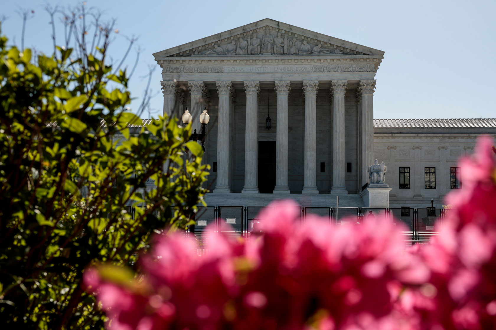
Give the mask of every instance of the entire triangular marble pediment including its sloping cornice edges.
<path id="1" fill-rule="evenodd" d="M 383 51 L 265 18 L 154 53 L 169 56 L 377 55 Z"/>

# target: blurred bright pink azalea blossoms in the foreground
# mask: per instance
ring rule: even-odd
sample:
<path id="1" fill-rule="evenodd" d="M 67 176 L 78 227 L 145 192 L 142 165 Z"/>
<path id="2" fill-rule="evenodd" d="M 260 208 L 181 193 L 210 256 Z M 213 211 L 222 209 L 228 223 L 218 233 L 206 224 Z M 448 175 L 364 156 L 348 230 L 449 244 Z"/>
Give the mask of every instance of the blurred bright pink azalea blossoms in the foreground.
<path id="1" fill-rule="evenodd" d="M 332 227 L 296 205 L 259 215 L 263 235 L 155 237 L 136 276 L 84 273 L 112 330 L 496 329 L 496 165 L 491 141 L 462 161 L 463 189 L 430 244 L 388 219 Z"/>

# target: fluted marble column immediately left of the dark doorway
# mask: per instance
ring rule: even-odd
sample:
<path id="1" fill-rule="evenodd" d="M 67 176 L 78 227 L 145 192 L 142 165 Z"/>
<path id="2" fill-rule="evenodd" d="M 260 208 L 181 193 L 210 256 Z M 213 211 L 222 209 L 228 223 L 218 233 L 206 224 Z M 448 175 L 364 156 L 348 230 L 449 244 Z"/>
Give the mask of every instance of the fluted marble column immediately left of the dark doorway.
<path id="1" fill-rule="evenodd" d="M 260 84 L 257 81 L 245 82 L 245 187 L 241 192 L 246 193 L 258 193 L 258 92 Z"/>

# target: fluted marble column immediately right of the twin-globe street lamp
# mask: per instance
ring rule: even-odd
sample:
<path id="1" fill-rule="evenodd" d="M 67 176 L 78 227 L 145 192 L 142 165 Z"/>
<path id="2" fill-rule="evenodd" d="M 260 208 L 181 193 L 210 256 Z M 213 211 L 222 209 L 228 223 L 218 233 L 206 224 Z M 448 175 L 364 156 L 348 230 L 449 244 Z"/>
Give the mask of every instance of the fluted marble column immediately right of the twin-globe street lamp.
<path id="1" fill-rule="evenodd" d="M 217 122 L 217 185 L 214 192 L 231 192 L 229 188 L 229 141 L 231 139 L 230 81 L 216 82 L 219 93 L 219 121 Z"/>

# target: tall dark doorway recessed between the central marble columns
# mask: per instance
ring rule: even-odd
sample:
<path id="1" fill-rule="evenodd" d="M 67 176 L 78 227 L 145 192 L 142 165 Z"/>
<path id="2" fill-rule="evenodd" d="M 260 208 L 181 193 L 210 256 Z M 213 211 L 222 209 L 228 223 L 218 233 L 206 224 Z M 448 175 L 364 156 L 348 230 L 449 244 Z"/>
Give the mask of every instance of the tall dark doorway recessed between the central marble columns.
<path id="1" fill-rule="evenodd" d="M 272 193 L 276 186 L 276 141 L 258 141 L 258 189 Z"/>

